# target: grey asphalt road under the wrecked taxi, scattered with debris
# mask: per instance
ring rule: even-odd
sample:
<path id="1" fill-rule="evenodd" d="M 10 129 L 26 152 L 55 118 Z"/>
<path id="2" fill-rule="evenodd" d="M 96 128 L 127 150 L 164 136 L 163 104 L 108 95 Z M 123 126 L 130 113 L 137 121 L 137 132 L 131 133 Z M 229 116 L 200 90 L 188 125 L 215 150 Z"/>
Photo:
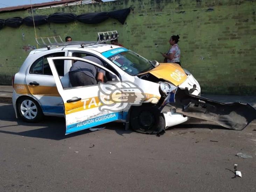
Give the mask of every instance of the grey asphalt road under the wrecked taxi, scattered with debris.
<path id="1" fill-rule="evenodd" d="M 65 136 L 64 121 L 24 123 L 0 104 L 1 192 L 256 191 L 255 121 L 234 131 L 193 119 L 160 137 L 118 123 Z"/>

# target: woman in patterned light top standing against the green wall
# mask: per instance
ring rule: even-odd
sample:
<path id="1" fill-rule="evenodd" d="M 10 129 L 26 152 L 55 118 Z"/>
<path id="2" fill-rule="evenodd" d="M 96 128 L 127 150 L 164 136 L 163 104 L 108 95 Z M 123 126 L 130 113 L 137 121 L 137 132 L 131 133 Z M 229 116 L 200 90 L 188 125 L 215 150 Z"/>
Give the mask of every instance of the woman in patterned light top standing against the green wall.
<path id="1" fill-rule="evenodd" d="M 165 63 L 177 63 L 180 65 L 180 49 L 179 45 L 179 35 L 171 36 L 169 43 L 172 45 L 167 54 L 162 54 L 165 58 Z"/>

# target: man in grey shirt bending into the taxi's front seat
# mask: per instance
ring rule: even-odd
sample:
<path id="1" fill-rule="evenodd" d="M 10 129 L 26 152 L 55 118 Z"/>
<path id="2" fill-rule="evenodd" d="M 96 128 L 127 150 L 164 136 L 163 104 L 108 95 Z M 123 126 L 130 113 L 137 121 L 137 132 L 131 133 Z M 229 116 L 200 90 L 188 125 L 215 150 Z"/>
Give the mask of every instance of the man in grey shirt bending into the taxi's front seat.
<path id="1" fill-rule="evenodd" d="M 96 57 L 85 56 L 83 58 L 103 66 L 100 59 Z M 99 81 L 103 82 L 104 76 L 103 69 L 82 61 L 75 62 L 69 71 L 69 80 L 73 87 L 95 85 Z"/>

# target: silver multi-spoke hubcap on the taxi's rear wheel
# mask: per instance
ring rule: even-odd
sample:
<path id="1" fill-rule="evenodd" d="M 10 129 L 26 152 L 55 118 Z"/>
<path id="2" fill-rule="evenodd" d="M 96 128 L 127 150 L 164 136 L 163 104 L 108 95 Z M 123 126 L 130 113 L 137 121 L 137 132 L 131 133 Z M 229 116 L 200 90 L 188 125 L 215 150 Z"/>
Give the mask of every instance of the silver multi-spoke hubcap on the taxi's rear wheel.
<path id="1" fill-rule="evenodd" d="M 20 111 L 26 119 L 34 119 L 37 115 L 37 107 L 31 100 L 22 101 Z"/>

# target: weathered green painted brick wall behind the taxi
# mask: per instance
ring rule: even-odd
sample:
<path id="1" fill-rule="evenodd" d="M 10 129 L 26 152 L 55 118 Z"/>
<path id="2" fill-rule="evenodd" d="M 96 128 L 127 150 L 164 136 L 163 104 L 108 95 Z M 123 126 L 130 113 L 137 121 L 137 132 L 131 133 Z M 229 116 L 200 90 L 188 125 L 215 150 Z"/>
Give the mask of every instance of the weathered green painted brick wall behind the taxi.
<path id="1" fill-rule="evenodd" d="M 90 13 L 132 7 L 124 25 L 108 19 L 100 24 L 45 24 L 37 36 L 67 35 L 95 40 L 96 32 L 118 30 L 125 47 L 148 59 L 163 61 L 171 35 L 179 34 L 182 66 L 199 81 L 204 93 L 256 95 L 256 2 L 250 0 L 119 0 L 106 3 L 37 9 L 34 14 Z M 29 11 L 0 13 L 0 19 L 22 18 Z M 36 47 L 34 28 L 0 30 L 0 84 L 10 85 L 29 51 Z"/>

